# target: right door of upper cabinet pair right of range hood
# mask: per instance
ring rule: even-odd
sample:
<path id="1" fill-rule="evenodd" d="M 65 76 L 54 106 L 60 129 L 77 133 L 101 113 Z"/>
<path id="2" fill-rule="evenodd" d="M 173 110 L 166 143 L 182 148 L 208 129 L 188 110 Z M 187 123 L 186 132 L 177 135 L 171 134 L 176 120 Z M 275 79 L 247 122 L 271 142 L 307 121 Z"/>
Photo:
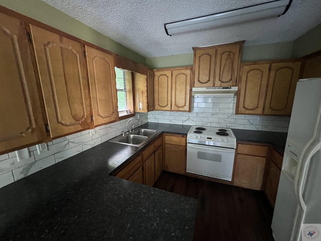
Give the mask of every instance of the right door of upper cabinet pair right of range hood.
<path id="1" fill-rule="evenodd" d="M 271 64 L 264 114 L 290 115 L 301 62 Z"/>

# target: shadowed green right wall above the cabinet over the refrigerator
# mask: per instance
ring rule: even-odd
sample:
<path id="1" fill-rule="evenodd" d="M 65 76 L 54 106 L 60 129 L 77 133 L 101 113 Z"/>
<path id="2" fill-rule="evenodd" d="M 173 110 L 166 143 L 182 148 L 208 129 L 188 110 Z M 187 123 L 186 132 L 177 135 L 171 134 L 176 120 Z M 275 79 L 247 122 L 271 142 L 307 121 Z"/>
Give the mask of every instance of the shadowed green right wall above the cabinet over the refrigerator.
<path id="1" fill-rule="evenodd" d="M 321 24 L 294 41 L 292 56 L 295 58 L 321 50 Z"/>

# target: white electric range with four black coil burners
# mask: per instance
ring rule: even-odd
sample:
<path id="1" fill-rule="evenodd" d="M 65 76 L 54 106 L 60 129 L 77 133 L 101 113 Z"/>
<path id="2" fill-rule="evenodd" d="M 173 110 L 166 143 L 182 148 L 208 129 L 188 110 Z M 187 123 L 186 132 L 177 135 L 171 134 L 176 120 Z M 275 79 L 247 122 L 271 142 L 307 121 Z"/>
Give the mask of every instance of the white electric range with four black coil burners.
<path id="1" fill-rule="evenodd" d="M 186 172 L 232 181 L 236 138 L 231 129 L 191 127 Z"/>

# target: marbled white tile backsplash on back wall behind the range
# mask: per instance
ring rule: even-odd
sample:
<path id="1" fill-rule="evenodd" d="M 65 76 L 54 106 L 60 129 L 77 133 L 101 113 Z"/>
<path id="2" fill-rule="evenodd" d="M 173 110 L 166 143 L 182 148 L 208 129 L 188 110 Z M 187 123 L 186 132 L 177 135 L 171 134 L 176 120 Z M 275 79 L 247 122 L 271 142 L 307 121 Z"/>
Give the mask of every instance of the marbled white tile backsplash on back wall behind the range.
<path id="1" fill-rule="evenodd" d="M 235 114 L 236 96 L 193 96 L 192 112 L 150 111 L 148 122 L 287 132 L 290 117 Z M 260 118 L 260 119 L 259 119 Z"/>

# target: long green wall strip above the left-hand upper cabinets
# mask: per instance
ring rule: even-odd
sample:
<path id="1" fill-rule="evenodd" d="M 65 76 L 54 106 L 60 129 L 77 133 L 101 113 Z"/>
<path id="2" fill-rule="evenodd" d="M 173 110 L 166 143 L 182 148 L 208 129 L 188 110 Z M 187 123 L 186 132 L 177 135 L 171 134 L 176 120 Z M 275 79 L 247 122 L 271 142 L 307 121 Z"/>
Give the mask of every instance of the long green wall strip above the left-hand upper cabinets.
<path id="1" fill-rule="evenodd" d="M 146 58 L 40 0 L 0 0 L 0 5 L 65 33 L 145 64 Z"/>

